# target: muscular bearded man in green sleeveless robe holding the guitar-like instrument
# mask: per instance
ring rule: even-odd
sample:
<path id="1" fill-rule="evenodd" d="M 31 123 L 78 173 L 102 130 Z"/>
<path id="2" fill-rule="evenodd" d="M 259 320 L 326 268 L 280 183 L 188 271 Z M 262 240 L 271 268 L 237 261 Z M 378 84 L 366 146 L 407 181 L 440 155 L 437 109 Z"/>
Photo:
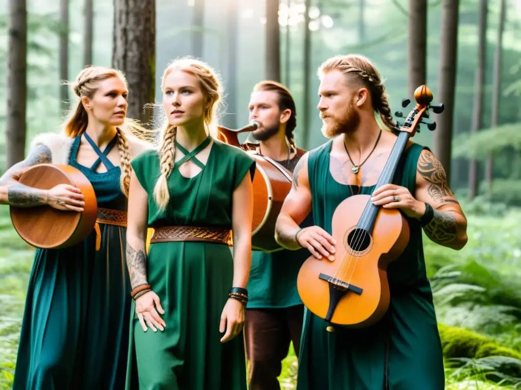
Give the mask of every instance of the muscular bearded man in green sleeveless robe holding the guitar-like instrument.
<path id="1" fill-rule="evenodd" d="M 337 256 L 332 218 L 355 194 L 399 209 L 410 227 L 404 252 L 387 268 L 390 306 L 373 326 L 334 327 L 305 310 L 297 390 L 443 390 L 444 371 L 432 291 L 426 275 L 422 228 L 435 243 L 461 249 L 466 219 L 442 165 L 425 147 L 406 145 L 392 184 L 376 188 L 396 135 L 386 90 L 376 67 L 359 55 L 336 56 L 319 68 L 322 133 L 331 138 L 295 167 L 293 187 L 276 223 L 287 249 L 306 248 L 321 261 Z M 299 224 L 313 212 L 315 226 Z"/>

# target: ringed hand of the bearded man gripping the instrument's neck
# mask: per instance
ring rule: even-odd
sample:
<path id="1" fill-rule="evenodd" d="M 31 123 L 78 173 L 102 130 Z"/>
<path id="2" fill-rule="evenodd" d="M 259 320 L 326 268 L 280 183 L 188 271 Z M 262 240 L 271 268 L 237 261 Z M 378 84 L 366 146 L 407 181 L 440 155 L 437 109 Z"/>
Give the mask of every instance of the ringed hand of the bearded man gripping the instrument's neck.
<path id="1" fill-rule="evenodd" d="M 421 218 L 425 214 L 425 203 L 416 200 L 407 188 L 394 184 L 377 188 L 371 201 L 384 209 L 400 209 L 411 218 Z"/>

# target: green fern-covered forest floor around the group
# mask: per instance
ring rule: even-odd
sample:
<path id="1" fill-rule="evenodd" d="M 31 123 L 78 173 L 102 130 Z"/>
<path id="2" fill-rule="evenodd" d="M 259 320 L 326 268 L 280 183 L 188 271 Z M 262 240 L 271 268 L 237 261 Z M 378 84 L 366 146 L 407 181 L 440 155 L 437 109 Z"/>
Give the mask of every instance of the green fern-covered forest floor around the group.
<path id="1" fill-rule="evenodd" d="M 478 209 L 470 205 L 464 210 L 469 240 L 462 251 L 424 240 L 438 321 L 487 336 L 499 346 L 521 353 L 521 212 L 506 211 L 502 206 Z M 1 207 L 0 390 L 11 388 L 13 381 L 33 253 L 13 229 L 8 207 Z M 454 350 L 449 353 L 449 349 L 444 347 L 444 354 L 450 355 Z M 521 388 L 521 360 L 448 355 L 445 358 L 447 390 Z M 296 387 L 296 374 L 297 362 L 291 347 L 279 377 L 282 389 Z"/>

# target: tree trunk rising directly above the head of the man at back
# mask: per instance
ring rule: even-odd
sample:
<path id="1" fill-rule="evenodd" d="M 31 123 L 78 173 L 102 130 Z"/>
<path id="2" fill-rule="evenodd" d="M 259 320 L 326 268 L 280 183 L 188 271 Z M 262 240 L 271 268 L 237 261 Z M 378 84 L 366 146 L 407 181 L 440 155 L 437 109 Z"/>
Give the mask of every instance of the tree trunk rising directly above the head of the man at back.
<path id="1" fill-rule="evenodd" d="M 266 79 L 280 82 L 279 0 L 266 0 Z"/>

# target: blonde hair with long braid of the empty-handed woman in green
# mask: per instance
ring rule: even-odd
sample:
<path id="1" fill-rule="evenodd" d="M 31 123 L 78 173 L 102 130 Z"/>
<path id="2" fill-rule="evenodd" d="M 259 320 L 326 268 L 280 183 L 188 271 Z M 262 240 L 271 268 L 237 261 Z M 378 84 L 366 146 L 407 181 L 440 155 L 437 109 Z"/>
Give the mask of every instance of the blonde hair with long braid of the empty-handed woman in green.
<path id="1" fill-rule="evenodd" d="M 179 58 L 169 64 L 163 73 L 161 89 L 165 90 L 165 80 L 174 69 L 194 75 L 199 80 L 203 95 L 206 97 L 203 120 L 209 134 L 217 138 L 217 103 L 221 101 L 221 83 L 217 73 L 207 63 L 191 58 Z M 154 200 L 160 210 L 165 210 L 170 199 L 168 177 L 173 171 L 176 158 L 177 127 L 168 123 L 165 114 L 163 129 L 160 130 L 162 141 L 159 148 L 160 176 L 154 187 Z"/>

